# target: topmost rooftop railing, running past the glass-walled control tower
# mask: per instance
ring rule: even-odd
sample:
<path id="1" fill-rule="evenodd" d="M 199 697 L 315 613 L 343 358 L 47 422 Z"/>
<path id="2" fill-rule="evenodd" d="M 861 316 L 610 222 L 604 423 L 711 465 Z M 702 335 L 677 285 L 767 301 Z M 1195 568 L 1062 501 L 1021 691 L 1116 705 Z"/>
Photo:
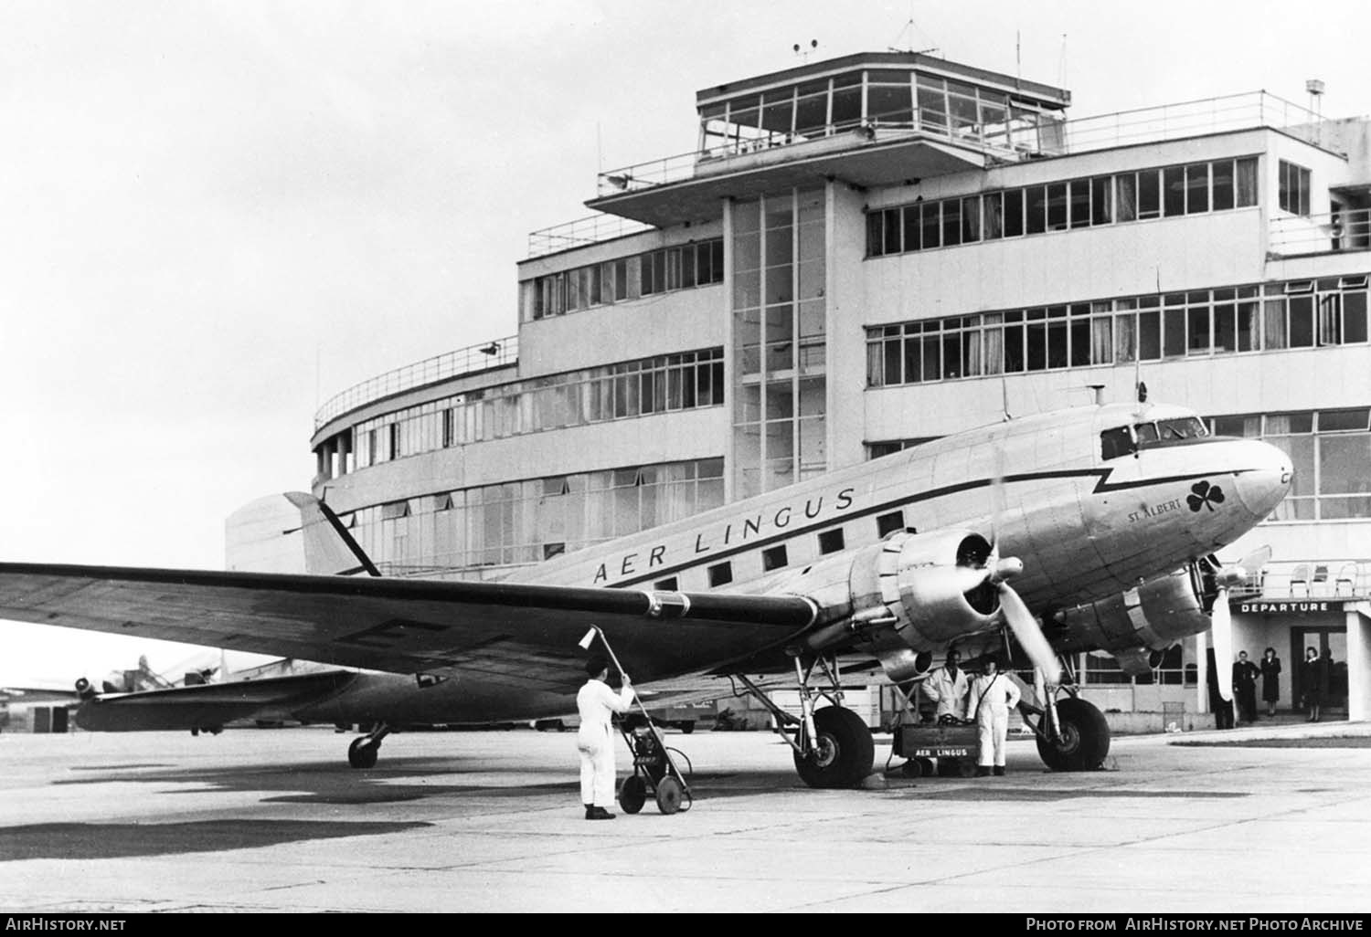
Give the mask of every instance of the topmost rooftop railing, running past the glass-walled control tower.
<path id="1" fill-rule="evenodd" d="M 760 151 L 799 147 L 853 132 L 876 140 L 887 134 L 919 134 L 979 147 L 993 156 L 1017 160 L 1179 140 L 1206 133 L 1296 127 L 1319 121 L 1313 111 L 1267 92 L 1205 97 L 1075 121 L 1056 121 L 1041 115 L 1036 122 L 980 126 L 951 125 L 945 115 L 936 122 L 916 122 L 912 118 L 913 114 L 908 112 L 873 115 L 864 121 L 831 125 L 809 134 L 764 133 L 750 127 L 753 134 L 746 138 L 600 173 L 598 193 L 611 196 L 681 182 L 696 175 L 713 174 L 721 160 L 750 156 Z"/>

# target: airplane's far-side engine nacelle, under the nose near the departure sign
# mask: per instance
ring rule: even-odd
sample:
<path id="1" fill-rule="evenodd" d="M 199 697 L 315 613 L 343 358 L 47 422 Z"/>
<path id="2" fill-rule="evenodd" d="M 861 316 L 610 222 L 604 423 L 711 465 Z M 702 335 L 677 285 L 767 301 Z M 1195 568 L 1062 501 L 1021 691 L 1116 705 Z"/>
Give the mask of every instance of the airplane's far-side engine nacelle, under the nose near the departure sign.
<path id="1" fill-rule="evenodd" d="M 1202 582 L 1189 567 L 1109 599 L 1063 610 L 1056 622 L 1060 630 L 1053 638 L 1063 651 L 1098 648 L 1120 660 L 1209 630 Z"/>

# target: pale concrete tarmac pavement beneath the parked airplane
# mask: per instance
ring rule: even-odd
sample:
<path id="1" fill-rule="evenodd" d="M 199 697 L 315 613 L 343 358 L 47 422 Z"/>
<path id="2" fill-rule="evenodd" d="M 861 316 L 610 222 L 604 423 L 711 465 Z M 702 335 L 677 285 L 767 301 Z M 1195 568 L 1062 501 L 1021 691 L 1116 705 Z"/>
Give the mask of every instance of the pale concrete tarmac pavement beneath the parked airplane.
<path id="1" fill-rule="evenodd" d="M 805 788 L 771 733 L 672 732 L 691 808 L 599 823 L 572 733 L 395 734 L 366 771 L 350 740 L 0 734 L 0 914 L 1371 911 L 1368 723 L 1117 737 L 1083 774 L 1013 740 L 1006 777 L 862 790 Z"/>

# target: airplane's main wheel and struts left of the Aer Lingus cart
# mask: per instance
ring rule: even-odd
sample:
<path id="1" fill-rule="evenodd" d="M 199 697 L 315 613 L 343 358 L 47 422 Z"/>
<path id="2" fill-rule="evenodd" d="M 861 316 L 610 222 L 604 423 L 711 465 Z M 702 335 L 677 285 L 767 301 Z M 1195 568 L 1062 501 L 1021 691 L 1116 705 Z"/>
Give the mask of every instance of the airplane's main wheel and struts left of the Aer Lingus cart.
<path id="1" fill-rule="evenodd" d="M 820 667 L 832 684 L 831 690 L 810 686 L 814 667 Z M 843 690 L 836 659 L 816 658 L 802 667 L 795 658 L 795 679 L 799 684 L 801 715 L 795 716 L 776 705 L 755 684 L 739 674 L 747 693 L 773 716 L 773 730 L 794 749 L 795 771 L 810 788 L 856 788 L 872 771 L 876 748 L 871 729 L 851 710 L 842 707 Z M 817 697 L 832 705 L 814 708 Z"/>

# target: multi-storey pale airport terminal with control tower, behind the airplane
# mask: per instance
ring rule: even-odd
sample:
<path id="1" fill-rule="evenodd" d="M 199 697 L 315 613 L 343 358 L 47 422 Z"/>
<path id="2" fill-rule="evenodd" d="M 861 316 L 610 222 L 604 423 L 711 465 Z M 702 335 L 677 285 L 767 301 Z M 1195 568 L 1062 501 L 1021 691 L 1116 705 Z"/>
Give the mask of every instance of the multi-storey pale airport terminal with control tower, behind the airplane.
<path id="1" fill-rule="evenodd" d="M 602 173 L 594 216 L 529 237 L 517 334 L 321 408 L 314 493 L 385 574 L 494 578 L 1142 382 L 1290 453 L 1290 497 L 1222 558 L 1271 548 L 1235 649 L 1276 649 L 1289 708 L 1320 647 L 1330 710 L 1371 716 L 1371 121 L 1069 104 L 903 52 L 701 90 L 695 152 Z M 263 526 L 230 518 L 230 569 L 280 567 Z M 1101 710 L 1206 710 L 1205 636 L 1150 678 L 1075 663 Z"/>

